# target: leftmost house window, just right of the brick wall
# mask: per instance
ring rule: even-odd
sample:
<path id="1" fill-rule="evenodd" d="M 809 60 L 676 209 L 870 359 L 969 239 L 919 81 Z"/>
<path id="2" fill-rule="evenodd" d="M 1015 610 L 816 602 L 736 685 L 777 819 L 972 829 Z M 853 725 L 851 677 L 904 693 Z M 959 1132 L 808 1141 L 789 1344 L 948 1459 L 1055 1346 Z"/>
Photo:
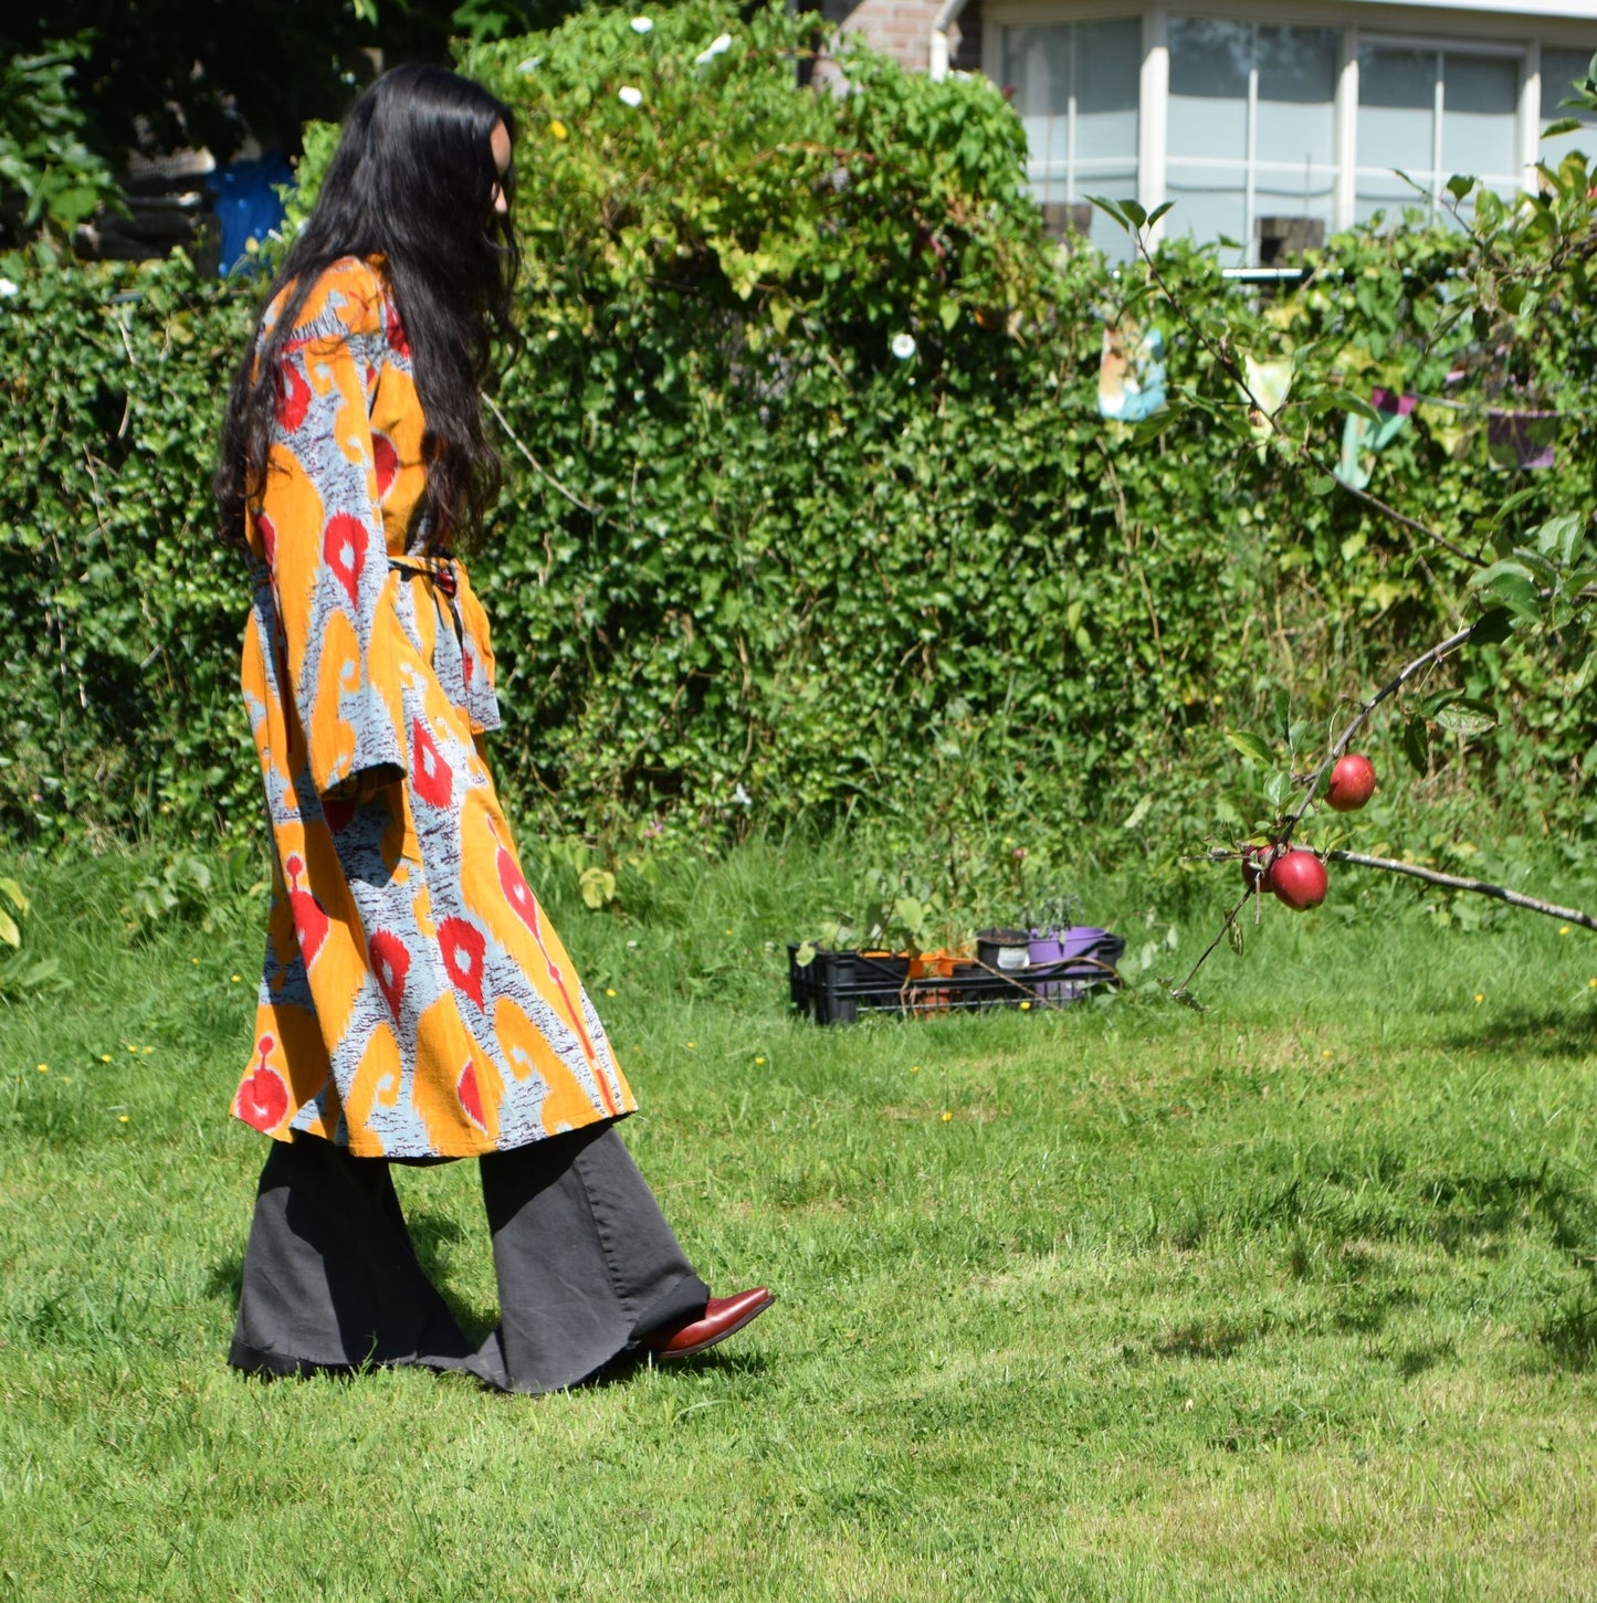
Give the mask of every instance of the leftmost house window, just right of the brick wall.
<path id="1" fill-rule="evenodd" d="M 1026 130 L 1026 176 L 1041 205 L 1137 192 L 1140 18 L 1005 27 L 1002 74 Z M 1121 231 L 1108 218 L 1092 213 L 1090 229 L 1095 244 L 1118 250 Z"/>

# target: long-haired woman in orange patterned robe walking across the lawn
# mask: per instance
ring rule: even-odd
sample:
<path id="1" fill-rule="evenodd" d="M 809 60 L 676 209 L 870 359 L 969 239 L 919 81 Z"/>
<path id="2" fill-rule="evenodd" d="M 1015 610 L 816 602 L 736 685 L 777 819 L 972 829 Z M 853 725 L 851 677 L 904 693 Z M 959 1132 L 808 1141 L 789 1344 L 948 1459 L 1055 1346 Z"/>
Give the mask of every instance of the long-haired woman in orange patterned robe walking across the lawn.
<path id="1" fill-rule="evenodd" d="M 252 1063 L 273 1137 L 231 1363 L 463 1369 L 548 1391 L 702 1351 L 712 1298 L 616 1122 L 637 1101 L 529 890 L 483 737 L 487 620 L 455 555 L 497 458 L 513 119 L 399 67 L 362 95 L 228 406 L 216 495 L 249 550 L 244 696 L 273 838 Z M 500 1326 L 473 1350 L 415 1258 L 391 1162 L 481 1161 Z"/>

